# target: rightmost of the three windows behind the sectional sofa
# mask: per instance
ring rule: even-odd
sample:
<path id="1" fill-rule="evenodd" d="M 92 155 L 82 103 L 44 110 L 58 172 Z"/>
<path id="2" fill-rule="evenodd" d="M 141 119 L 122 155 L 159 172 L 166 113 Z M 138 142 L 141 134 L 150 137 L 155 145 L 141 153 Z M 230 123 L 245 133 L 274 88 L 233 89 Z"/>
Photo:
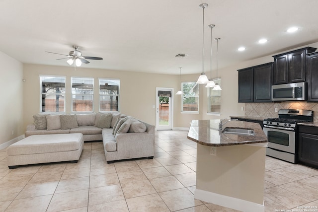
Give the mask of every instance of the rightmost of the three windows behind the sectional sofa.
<path id="1" fill-rule="evenodd" d="M 119 111 L 119 79 L 99 78 L 99 111 Z"/>

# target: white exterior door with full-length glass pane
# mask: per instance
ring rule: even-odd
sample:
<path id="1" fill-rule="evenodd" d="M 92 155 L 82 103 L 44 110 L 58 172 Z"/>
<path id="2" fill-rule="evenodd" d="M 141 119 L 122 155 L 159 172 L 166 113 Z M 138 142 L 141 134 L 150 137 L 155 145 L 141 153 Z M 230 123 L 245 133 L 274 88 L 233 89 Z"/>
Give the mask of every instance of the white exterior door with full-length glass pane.
<path id="1" fill-rule="evenodd" d="M 156 129 L 172 130 L 173 115 L 172 115 L 172 95 L 173 88 L 156 89 Z"/>

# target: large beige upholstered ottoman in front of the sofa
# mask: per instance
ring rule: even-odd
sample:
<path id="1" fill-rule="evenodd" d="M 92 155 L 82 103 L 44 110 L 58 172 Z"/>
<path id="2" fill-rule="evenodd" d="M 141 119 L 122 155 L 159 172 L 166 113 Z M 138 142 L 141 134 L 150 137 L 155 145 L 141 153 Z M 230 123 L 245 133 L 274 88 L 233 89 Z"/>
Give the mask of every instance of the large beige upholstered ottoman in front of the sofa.
<path id="1" fill-rule="evenodd" d="M 8 167 L 60 161 L 76 163 L 83 145 L 81 133 L 29 136 L 7 147 Z"/>

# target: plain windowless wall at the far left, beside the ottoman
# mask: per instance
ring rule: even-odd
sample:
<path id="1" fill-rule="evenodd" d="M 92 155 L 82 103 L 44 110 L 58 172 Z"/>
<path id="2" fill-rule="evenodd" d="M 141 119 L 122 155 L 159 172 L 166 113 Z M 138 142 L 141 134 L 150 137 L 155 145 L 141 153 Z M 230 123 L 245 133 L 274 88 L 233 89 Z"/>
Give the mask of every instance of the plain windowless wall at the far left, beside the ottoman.
<path id="1" fill-rule="evenodd" d="M 23 65 L 0 52 L 0 145 L 24 134 Z M 12 135 L 13 131 L 13 135 Z"/>

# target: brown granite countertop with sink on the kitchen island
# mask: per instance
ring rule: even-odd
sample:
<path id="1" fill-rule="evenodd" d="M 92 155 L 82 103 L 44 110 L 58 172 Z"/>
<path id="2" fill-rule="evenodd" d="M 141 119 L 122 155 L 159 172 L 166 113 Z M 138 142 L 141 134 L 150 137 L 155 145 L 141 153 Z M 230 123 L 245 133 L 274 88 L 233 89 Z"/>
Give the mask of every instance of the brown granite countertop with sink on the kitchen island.
<path id="1" fill-rule="evenodd" d="M 225 123 L 224 120 L 223 123 Z M 223 126 L 223 130 L 227 127 L 253 129 L 254 136 L 244 136 L 235 134 L 225 134 L 219 131 L 220 119 L 213 120 L 193 120 L 188 132 L 187 138 L 191 141 L 206 146 L 227 146 L 240 144 L 253 144 L 267 142 L 266 135 L 257 123 L 231 121 Z"/>

